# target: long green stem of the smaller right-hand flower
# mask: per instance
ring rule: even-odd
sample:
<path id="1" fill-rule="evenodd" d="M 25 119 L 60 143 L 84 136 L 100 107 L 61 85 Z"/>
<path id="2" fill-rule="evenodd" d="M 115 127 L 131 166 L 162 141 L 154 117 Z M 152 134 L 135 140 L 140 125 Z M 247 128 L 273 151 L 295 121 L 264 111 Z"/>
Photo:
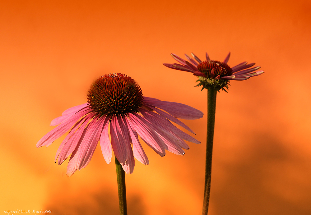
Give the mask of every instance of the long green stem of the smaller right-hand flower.
<path id="1" fill-rule="evenodd" d="M 217 90 L 212 87 L 207 88 L 207 139 L 206 139 L 206 161 L 205 161 L 205 187 L 202 215 L 207 215 L 208 204 L 210 201 L 211 190 L 211 171 L 212 171 L 212 153 L 215 127 L 216 112 L 216 94 Z"/>

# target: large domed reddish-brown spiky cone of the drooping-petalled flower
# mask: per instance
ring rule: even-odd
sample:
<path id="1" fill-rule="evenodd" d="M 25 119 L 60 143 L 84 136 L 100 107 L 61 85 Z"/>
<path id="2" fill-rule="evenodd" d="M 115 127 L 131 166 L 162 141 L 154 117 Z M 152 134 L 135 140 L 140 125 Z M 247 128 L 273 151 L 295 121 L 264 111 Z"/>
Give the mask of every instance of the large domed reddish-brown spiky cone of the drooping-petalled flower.
<path id="1" fill-rule="evenodd" d="M 142 90 L 131 77 L 107 74 L 91 86 L 87 99 L 90 107 L 100 114 L 123 114 L 142 106 Z"/>

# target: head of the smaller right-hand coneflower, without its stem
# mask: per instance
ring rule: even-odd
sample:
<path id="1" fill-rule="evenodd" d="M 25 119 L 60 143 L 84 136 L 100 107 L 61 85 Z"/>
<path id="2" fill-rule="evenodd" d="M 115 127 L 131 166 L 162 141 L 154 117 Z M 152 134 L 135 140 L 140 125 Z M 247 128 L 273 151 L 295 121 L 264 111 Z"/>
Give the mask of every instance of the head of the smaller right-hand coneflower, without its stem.
<path id="1" fill-rule="evenodd" d="M 187 60 L 180 58 L 175 54 L 171 54 L 172 57 L 180 64 L 163 64 L 168 68 L 177 69 L 186 72 L 192 72 L 193 75 L 198 76 L 200 83 L 197 86 L 203 86 L 202 90 L 207 87 L 214 87 L 216 90 L 228 89 L 230 80 L 246 80 L 250 77 L 262 74 L 264 71 L 256 71 L 260 68 L 252 67 L 255 63 L 248 64 L 247 62 L 240 63 L 234 67 L 230 67 L 227 63 L 230 58 L 230 52 L 225 58 L 224 62 L 211 60 L 206 53 L 206 60 L 200 60 L 196 55 L 191 53 L 194 59 L 189 55 L 186 55 Z M 256 71 L 256 72 L 255 72 Z"/>

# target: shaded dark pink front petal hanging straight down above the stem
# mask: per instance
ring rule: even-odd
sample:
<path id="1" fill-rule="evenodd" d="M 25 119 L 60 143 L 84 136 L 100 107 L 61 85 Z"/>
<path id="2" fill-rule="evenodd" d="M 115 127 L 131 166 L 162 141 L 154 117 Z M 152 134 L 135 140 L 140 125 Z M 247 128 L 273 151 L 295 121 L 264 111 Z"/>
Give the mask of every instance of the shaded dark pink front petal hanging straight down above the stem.
<path id="1" fill-rule="evenodd" d="M 126 137 L 124 136 L 118 118 L 115 115 L 112 116 L 110 121 L 110 137 L 114 155 L 117 157 L 121 165 L 125 165 L 125 161 L 128 159 L 128 150 L 123 147 L 124 143 L 126 143 Z"/>

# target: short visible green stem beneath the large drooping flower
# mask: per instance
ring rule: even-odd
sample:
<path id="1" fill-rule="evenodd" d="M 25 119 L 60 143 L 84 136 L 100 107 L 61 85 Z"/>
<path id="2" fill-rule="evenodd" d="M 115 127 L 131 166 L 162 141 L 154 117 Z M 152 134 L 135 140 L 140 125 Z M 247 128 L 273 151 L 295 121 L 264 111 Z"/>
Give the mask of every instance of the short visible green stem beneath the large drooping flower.
<path id="1" fill-rule="evenodd" d="M 125 173 L 116 156 L 114 156 L 114 158 L 117 170 L 120 215 L 127 215 L 128 209 L 126 207 Z"/>

